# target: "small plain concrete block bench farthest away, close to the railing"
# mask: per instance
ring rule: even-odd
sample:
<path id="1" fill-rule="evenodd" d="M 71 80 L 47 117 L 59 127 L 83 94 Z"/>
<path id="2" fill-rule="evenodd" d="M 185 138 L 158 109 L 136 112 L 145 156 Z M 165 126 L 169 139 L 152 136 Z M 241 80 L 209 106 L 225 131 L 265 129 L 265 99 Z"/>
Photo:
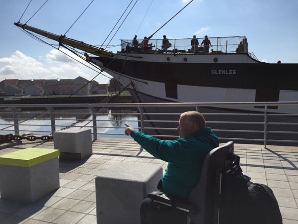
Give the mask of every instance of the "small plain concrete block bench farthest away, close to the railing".
<path id="1" fill-rule="evenodd" d="M 54 148 L 60 150 L 60 158 L 83 159 L 92 155 L 90 128 L 68 128 L 54 132 Z"/>

